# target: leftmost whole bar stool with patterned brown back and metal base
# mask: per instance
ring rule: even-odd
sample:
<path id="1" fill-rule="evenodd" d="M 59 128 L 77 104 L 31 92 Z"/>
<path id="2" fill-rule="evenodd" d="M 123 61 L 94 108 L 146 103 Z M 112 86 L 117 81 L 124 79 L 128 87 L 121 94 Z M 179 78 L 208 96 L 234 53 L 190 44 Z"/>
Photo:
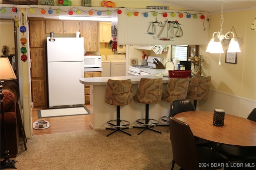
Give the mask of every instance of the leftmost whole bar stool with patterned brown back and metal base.
<path id="1" fill-rule="evenodd" d="M 107 136 L 121 131 L 127 135 L 132 136 L 130 133 L 123 129 L 129 129 L 130 122 L 120 119 L 120 106 L 130 104 L 132 102 L 132 81 L 127 80 L 111 80 L 109 79 L 106 86 L 105 102 L 107 104 L 116 106 L 116 119 L 107 122 L 107 125 L 114 129 Z"/>

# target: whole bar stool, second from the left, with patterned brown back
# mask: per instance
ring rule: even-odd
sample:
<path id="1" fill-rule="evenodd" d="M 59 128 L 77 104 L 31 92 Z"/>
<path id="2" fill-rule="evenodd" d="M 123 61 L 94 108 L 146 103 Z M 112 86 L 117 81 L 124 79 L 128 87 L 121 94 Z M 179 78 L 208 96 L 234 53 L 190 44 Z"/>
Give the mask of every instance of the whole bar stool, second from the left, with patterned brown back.
<path id="1" fill-rule="evenodd" d="M 146 104 L 146 113 L 145 118 L 136 120 L 138 125 L 142 125 L 144 127 L 136 127 L 133 128 L 144 128 L 140 133 L 145 131 L 146 129 L 155 131 L 157 133 L 161 133 L 156 129 L 152 129 L 154 125 L 158 124 L 158 121 L 155 119 L 150 119 L 148 116 L 149 113 L 149 105 L 150 104 L 157 104 L 161 101 L 162 96 L 162 78 L 141 78 L 140 83 L 138 85 L 138 89 L 136 95 L 133 96 L 133 100 L 135 102 Z M 140 135 L 138 133 L 138 135 Z"/>

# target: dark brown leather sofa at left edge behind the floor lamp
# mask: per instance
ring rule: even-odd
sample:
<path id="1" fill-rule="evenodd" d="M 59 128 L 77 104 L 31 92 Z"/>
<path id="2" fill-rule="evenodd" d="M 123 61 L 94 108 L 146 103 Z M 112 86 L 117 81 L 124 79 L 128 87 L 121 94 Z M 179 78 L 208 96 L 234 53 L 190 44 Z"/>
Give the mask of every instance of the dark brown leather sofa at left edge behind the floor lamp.
<path id="1" fill-rule="evenodd" d="M 19 99 L 18 80 L 7 80 L 3 83 L 3 111 L 6 128 L 6 143 L 10 158 L 16 157 L 19 144 L 19 128 L 16 115 L 16 104 Z M 1 108 L 2 109 L 2 108 Z M 2 110 L 1 110 L 2 111 Z M 1 115 L 1 157 L 4 156 L 4 131 Z"/>

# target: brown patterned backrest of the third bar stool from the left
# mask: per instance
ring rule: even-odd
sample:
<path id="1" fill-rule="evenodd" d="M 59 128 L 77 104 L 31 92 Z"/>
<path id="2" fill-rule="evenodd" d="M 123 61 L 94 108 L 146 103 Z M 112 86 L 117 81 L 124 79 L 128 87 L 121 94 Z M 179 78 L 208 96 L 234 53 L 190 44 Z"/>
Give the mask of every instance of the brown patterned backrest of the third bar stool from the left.
<path id="1" fill-rule="evenodd" d="M 172 102 L 174 100 L 185 99 L 188 92 L 189 78 L 170 78 L 162 100 Z"/>

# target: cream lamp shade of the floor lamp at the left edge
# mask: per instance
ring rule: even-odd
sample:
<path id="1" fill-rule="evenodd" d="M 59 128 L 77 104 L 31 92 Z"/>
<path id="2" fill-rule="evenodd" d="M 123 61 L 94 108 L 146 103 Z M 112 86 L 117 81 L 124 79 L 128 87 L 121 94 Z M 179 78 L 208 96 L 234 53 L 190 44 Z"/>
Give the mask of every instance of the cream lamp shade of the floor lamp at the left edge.
<path id="1" fill-rule="evenodd" d="M 8 57 L 0 57 L 0 80 L 13 80 L 16 75 Z"/>

